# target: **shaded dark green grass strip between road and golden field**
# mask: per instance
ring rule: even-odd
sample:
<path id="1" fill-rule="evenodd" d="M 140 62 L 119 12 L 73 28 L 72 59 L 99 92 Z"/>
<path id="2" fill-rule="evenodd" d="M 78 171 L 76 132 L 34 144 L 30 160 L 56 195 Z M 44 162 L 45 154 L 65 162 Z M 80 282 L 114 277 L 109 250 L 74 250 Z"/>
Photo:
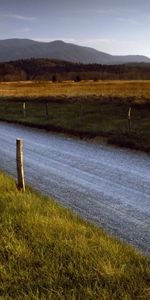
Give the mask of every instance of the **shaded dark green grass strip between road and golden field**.
<path id="1" fill-rule="evenodd" d="M 132 107 L 130 132 L 129 107 Z M 1 98 L 0 120 L 79 137 L 103 136 L 111 144 L 150 152 L 150 103 L 137 98 Z"/>

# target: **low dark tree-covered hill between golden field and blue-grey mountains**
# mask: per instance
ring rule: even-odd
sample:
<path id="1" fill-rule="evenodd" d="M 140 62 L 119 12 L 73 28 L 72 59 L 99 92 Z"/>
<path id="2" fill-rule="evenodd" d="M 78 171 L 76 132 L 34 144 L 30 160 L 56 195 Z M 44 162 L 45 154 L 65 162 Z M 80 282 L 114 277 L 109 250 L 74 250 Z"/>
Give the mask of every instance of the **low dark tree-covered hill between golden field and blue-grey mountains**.
<path id="1" fill-rule="evenodd" d="M 150 63 L 81 64 L 52 59 L 25 59 L 0 63 L 0 81 L 21 80 L 150 80 Z"/>

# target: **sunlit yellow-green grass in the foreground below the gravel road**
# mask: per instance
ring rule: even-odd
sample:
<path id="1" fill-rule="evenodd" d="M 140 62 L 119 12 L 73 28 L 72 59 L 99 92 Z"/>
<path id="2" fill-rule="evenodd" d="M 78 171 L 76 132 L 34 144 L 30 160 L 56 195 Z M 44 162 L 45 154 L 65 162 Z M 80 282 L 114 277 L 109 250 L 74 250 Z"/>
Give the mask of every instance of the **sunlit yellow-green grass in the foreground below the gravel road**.
<path id="1" fill-rule="evenodd" d="M 150 299 L 150 259 L 0 173 L 0 299 Z"/>

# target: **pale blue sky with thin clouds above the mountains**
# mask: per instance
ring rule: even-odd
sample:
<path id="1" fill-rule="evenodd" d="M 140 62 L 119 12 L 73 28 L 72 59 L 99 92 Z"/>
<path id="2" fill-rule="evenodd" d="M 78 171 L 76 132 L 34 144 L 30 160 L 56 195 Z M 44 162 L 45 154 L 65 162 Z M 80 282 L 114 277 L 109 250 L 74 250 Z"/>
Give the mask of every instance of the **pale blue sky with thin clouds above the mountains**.
<path id="1" fill-rule="evenodd" d="M 150 57 L 150 0 L 0 0 L 0 39 L 8 38 Z"/>

